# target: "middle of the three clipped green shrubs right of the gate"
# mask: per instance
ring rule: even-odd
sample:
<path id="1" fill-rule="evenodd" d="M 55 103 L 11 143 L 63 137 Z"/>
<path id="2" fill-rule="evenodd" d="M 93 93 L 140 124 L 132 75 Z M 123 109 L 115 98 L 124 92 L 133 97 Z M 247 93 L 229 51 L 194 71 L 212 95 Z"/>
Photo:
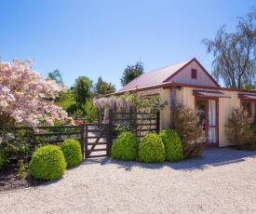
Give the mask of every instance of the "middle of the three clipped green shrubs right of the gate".
<path id="1" fill-rule="evenodd" d="M 147 134 L 139 145 L 139 160 L 144 163 L 163 162 L 166 157 L 162 139 L 155 133 Z"/>

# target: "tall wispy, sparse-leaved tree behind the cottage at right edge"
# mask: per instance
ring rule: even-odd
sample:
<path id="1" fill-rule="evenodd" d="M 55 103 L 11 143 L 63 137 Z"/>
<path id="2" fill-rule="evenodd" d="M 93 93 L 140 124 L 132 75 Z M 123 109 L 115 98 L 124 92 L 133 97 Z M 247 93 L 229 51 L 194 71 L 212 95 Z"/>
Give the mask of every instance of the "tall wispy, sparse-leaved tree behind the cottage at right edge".
<path id="1" fill-rule="evenodd" d="M 203 39 L 207 52 L 213 52 L 213 77 L 222 78 L 226 87 L 253 86 L 256 68 L 256 9 L 246 17 L 237 17 L 235 33 L 226 33 L 225 25 L 214 40 Z"/>

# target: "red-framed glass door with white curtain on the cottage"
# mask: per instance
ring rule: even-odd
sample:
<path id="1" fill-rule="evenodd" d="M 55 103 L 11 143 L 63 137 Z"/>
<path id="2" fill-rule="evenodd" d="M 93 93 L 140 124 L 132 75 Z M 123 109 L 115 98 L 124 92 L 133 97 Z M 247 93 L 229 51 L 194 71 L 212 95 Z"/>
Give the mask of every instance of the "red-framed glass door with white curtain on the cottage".
<path id="1" fill-rule="evenodd" d="M 205 130 L 209 147 L 219 146 L 218 141 L 218 99 L 196 99 L 196 106 L 200 114 L 199 125 Z"/>

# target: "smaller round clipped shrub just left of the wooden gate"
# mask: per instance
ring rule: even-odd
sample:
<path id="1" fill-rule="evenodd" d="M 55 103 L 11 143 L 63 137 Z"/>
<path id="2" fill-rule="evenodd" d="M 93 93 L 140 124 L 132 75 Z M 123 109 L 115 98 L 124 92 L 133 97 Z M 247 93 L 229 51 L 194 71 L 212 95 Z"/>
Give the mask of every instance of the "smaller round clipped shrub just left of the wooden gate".
<path id="1" fill-rule="evenodd" d="M 81 163 L 83 154 L 81 151 L 81 145 L 77 140 L 64 140 L 61 144 L 61 150 L 65 156 L 68 167 L 74 167 Z"/>

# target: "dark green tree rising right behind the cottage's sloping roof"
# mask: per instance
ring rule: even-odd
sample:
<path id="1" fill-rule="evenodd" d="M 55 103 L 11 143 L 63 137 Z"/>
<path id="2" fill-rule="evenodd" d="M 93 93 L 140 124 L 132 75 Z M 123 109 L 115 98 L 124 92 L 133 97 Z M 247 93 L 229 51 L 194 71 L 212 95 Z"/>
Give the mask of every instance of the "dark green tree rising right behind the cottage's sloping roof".
<path id="1" fill-rule="evenodd" d="M 128 83 L 132 80 L 134 80 L 139 75 L 143 74 L 143 63 L 142 62 L 136 62 L 135 65 L 129 66 L 125 69 L 123 72 L 123 75 L 120 79 L 121 86 L 124 87 L 128 85 Z"/>

